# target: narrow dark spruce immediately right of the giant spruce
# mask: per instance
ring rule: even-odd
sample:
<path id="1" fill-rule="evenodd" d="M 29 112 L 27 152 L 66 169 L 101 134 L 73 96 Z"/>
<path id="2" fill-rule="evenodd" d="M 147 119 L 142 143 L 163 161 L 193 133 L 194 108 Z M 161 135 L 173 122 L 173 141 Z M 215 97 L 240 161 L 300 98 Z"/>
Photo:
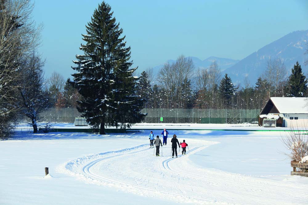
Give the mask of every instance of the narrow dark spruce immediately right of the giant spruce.
<path id="1" fill-rule="evenodd" d="M 147 107 L 147 102 L 149 98 L 151 97 L 151 84 L 149 81 L 148 73 L 145 71 L 142 71 L 139 77 L 139 84 L 138 84 L 138 95 L 141 96 L 141 99 L 143 99 L 144 107 Z"/>

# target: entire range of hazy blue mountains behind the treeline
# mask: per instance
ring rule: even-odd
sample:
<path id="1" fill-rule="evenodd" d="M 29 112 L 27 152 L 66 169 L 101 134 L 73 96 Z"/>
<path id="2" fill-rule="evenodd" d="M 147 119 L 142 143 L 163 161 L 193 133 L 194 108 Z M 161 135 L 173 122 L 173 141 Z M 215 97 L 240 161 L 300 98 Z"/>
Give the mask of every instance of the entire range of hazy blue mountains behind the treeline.
<path id="1" fill-rule="evenodd" d="M 302 66 L 305 74 L 308 74 L 308 66 L 304 65 L 306 45 L 308 42 L 308 30 L 294 31 L 278 40 L 265 45 L 258 51 L 251 53 L 242 60 L 233 60 L 221 57 L 209 57 L 205 60 L 200 60 L 197 57 L 189 57 L 193 60 L 195 68 L 207 68 L 213 61 L 216 61 L 221 68 L 222 76 L 228 73 L 232 81 L 236 84 L 241 84 L 245 76 L 251 84 L 257 81 L 257 78 L 264 73 L 267 61 L 271 59 L 280 58 L 285 66 L 287 75 L 290 74 L 291 68 L 296 64 L 296 61 Z M 167 60 L 166 62 L 172 63 L 175 60 Z M 153 72 L 158 73 L 163 64 L 153 67 Z"/>

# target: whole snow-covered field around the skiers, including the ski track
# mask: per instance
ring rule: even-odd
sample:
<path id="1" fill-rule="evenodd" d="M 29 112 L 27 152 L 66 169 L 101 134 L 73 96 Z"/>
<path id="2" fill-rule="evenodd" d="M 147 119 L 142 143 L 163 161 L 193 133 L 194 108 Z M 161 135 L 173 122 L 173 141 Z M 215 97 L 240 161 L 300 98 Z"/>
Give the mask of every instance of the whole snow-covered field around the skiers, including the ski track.
<path id="1" fill-rule="evenodd" d="M 142 132 L 17 132 L 0 141 L 0 204 L 307 203 L 308 179 L 290 176 L 282 153 L 285 132 L 169 133 L 186 140 L 186 155 L 172 159 L 167 145 L 153 156 Z"/>

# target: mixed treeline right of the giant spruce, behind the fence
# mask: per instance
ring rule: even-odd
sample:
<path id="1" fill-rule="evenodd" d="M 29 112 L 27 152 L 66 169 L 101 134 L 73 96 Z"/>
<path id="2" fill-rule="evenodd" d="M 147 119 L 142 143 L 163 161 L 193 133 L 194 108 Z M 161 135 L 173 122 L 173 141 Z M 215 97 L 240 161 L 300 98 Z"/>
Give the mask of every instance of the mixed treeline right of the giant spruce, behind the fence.
<path id="1" fill-rule="evenodd" d="M 152 71 L 140 74 L 138 94 L 147 108 L 233 108 L 262 109 L 270 97 L 307 97 L 307 79 L 296 62 L 289 77 L 281 59 L 269 59 L 255 85 L 246 77 L 234 85 L 216 62 L 195 71 L 184 56 L 160 69 L 158 84 L 151 85 Z"/>

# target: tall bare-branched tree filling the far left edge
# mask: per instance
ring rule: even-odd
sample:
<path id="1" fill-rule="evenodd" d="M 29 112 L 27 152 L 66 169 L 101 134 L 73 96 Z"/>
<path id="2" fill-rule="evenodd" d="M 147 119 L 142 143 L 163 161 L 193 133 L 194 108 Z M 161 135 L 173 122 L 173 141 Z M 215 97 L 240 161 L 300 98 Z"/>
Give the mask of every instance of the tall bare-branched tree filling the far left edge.
<path id="1" fill-rule="evenodd" d="M 16 117 L 20 59 L 40 44 L 40 30 L 31 20 L 28 0 L 0 0 L 0 137 Z"/>

